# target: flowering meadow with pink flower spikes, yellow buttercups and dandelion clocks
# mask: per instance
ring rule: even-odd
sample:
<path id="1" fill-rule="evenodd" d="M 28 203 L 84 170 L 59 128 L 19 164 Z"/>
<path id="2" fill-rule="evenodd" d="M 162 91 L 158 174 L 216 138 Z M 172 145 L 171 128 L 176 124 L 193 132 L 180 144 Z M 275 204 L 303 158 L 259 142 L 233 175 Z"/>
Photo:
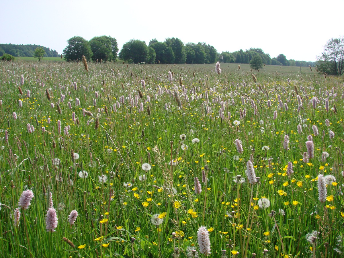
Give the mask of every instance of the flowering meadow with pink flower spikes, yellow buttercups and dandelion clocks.
<path id="1" fill-rule="evenodd" d="M 0 62 L 0 256 L 342 257 L 344 78 L 220 68 Z"/>

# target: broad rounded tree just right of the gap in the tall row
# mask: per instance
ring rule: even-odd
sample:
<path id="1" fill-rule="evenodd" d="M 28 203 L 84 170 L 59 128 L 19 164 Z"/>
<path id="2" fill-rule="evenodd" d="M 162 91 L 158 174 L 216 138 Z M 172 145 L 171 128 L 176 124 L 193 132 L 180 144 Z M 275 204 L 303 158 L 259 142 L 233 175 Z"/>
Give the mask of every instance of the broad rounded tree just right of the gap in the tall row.
<path id="1" fill-rule="evenodd" d="M 144 41 L 130 40 L 123 45 L 119 58 L 130 63 L 148 62 L 150 60 L 148 46 Z"/>

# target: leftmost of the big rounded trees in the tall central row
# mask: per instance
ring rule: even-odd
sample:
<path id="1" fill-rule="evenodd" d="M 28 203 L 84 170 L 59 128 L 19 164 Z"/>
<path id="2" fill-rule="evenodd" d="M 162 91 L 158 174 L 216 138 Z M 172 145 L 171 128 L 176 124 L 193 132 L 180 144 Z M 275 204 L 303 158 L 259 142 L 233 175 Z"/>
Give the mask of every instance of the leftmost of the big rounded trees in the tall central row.
<path id="1" fill-rule="evenodd" d="M 90 60 L 93 53 L 90 43 L 83 37 L 74 36 L 68 41 L 67 47 L 63 50 L 63 55 L 66 61 L 81 61 L 83 55 L 86 60 Z"/>

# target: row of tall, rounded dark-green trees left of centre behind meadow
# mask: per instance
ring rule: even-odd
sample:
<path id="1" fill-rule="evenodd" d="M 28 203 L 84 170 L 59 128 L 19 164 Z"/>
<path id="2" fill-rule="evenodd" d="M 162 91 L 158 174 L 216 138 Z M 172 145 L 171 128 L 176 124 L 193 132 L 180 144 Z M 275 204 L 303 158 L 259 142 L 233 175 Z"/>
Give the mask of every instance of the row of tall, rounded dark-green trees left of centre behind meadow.
<path id="1" fill-rule="evenodd" d="M 83 55 L 94 62 L 115 61 L 117 58 L 118 44 L 110 36 L 98 36 L 90 41 L 75 36 L 67 43 L 63 50 L 67 61 L 80 61 Z M 123 45 L 118 56 L 129 63 L 150 64 L 211 64 L 218 60 L 215 47 L 204 42 L 184 45 L 180 39 L 174 37 L 164 42 L 152 39 L 148 46 L 144 41 L 130 40 Z"/>

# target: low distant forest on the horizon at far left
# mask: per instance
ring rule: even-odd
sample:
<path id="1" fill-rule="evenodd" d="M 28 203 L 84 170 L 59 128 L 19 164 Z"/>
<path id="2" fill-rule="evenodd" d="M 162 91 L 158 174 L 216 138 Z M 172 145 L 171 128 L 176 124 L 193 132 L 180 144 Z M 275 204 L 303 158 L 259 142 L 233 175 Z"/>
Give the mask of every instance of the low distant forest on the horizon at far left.
<path id="1" fill-rule="evenodd" d="M 42 47 L 45 51 L 44 57 L 58 57 L 56 50 L 41 45 L 17 45 L 17 44 L 0 44 L 0 56 L 10 54 L 12 56 L 34 56 L 35 49 Z"/>

